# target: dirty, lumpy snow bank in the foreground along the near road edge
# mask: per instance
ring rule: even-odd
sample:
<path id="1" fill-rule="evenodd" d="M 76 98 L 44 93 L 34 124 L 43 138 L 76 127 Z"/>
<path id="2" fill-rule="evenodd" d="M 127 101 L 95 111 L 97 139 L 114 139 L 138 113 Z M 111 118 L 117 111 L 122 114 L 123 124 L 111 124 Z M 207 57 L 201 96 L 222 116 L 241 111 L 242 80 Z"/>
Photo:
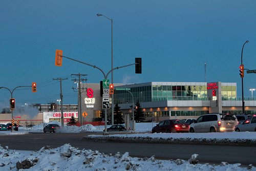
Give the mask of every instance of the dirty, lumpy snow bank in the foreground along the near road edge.
<path id="1" fill-rule="evenodd" d="M 197 154 L 186 160 L 133 158 L 129 153 L 105 155 L 98 151 L 79 150 L 69 144 L 58 148 L 42 147 L 38 152 L 15 151 L 0 146 L 0 170 L 256 170 L 252 165 L 198 164 Z"/>

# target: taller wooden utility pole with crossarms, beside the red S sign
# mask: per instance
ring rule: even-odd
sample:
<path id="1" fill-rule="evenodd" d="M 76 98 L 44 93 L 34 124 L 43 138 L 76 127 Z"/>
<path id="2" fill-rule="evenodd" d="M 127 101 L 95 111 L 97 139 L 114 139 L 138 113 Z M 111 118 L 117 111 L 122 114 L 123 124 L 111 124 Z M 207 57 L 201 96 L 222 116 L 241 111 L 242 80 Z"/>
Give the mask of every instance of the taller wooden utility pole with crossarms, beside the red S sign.
<path id="1" fill-rule="evenodd" d="M 81 79 L 81 76 L 87 76 L 87 74 L 71 74 L 71 76 L 78 76 L 78 86 L 77 86 L 77 89 L 78 89 L 78 122 L 82 125 L 83 124 L 83 118 L 82 118 L 82 100 L 81 100 L 81 93 L 83 92 L 83 88 L 81 88 L 81 81 L 87 81 L 87 79 L 84 79 L 82 78 Z M 74 81 L 74 83 L 76 82 L 76 79 L 72 79 Z M 81 91 L 82 89 L 82 91 Z M 73 88 L 74 90 L 74 88 Z"/>

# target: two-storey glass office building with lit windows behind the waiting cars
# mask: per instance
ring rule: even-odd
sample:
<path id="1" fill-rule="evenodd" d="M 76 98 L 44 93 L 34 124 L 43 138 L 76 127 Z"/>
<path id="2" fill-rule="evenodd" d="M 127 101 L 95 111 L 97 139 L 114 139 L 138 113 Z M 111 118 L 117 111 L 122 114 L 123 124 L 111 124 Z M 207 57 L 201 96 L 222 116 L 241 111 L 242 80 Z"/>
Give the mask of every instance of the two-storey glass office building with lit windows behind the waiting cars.
<path id="1" fill-rule="evenodd" d="M 125 84 L 116 88 L 130 89 L 130 92 L 115 90 L 114 93 L 114 103 L 121 106 L 123 113 L 131 114 L 132 101 L 134 100 L 134 103 L 139 101 L 146 120 L 151 120 L 152 117 L 160 120 L 172 117 L 195 118 L 209 113 L 211 100 L 207 97 L 206 82 L 146 82 Z M 224 104 L 223 112 L 241 113 L 239 108 L 241 105 L 237 99 L 237 83 L 221 82 L 221 96 Z M 229 101 L 234 101 L 236 104 L 229 104 Z M 254 109 L 247 111 L 247 113 L 255 112 Z"/>

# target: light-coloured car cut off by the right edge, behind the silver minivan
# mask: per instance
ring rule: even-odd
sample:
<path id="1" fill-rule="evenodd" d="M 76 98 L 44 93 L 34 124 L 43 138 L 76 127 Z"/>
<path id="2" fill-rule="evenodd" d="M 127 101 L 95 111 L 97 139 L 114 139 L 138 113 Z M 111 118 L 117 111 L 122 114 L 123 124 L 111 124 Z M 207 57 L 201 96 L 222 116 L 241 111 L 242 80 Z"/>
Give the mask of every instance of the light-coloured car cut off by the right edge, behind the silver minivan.
<path id="1" fill-rule="evenodd" d="M 238 124 L 234 131 L 256 131 L 256 115 L 247 118 L 243 123 Z"/>

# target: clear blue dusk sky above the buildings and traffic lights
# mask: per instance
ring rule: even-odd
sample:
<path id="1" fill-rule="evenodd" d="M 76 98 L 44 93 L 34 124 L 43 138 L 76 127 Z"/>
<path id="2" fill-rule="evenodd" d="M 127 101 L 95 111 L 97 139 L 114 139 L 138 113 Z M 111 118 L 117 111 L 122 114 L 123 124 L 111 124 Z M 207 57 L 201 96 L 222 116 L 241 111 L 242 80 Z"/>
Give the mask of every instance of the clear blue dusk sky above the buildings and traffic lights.
<path id="1" fill-rule="evenodd" d="M 236 82 L 242 96 L 239 66 L 241 51 L 246 69 L 256 69 L 256 1 L 0 1 L 0 87 L 14 89 L 16 103 L 48 103 L 59 99 L 77 104 L 71 74 L 88 74 L 87 82 L 103 79 L 92 67 L 64 58 L 55 66 L 55 50 L 111 70 L 111 22 L 113 19 L 114 67 L 142 58 L 142 74 L 135 66 L 114 71 L 115 83 Z M 111 74 L 109 75 L 111 78 Z M 256 74 L 244 77 L 244 96 L 256 88 Z M 256 93 L 256 92 L 255 92 Z M 256 96 L 256 94 L 255 94 Z M 10 92 L 0 90 L 0 102 L 8 106 Z"/>

